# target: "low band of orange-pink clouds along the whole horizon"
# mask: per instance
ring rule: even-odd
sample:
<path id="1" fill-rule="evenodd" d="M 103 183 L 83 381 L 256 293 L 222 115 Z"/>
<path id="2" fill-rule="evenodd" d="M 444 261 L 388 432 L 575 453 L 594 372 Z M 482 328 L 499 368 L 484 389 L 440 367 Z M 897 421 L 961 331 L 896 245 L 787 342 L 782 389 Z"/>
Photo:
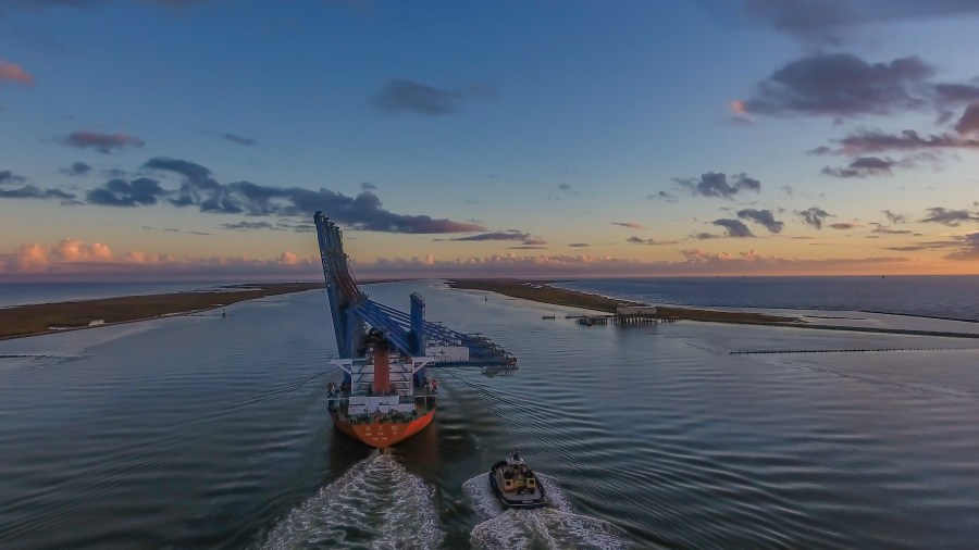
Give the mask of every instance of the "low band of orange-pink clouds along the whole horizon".
<path id="1" fill-rule="evenodd" d="M 436 260 L 377 258 L 351 263 L 363 278 L 405 277 L 655 277 L 655 276 L 778 276 L 778 275 L 928 275 L 972 274 L 979 271 L 974 253 L 959 251 L 946 259 L 917 255 L 806 259 L 767 255 L 756 249 L 711 251 L 687 248 L 677 260 L 616 258 L 602 254 L 516 253 Z M 964 255 L 965 254 L 965 255 Z M 277 280 L 322 276 L 315 255 L 284 251 L 268 259 L 194 257 L 132 250 L 114 253 L 102 242 L 65 238 L 55 245 L 24 243 L 0 253 L 0 280 L 37 278 Z"/>

